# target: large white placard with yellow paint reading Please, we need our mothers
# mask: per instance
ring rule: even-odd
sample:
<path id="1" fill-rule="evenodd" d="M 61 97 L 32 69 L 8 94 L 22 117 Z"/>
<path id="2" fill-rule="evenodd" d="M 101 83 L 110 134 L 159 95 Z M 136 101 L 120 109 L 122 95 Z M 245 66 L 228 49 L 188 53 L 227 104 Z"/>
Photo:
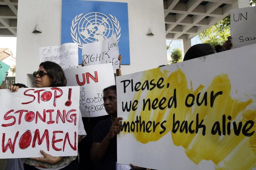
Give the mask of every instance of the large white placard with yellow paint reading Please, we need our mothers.
<path id="1" fill-rule="evenodd" d="M 116 78 L 117 163 L 256 166 L 256 44 Z"/>

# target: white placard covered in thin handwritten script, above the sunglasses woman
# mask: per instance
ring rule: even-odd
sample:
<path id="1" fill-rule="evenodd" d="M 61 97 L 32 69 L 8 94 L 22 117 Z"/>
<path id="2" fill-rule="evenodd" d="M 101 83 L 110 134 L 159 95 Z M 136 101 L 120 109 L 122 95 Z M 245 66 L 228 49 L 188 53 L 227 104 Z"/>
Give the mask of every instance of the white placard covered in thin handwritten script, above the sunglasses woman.
<path id="1" fill-rule="evenodd" d="M 78 66 L 78 47 L 76 43 L 65 43 L 61 46 L 39 48 L 40 63 L 51 61 L 61 66 L 63 70 Z"/>

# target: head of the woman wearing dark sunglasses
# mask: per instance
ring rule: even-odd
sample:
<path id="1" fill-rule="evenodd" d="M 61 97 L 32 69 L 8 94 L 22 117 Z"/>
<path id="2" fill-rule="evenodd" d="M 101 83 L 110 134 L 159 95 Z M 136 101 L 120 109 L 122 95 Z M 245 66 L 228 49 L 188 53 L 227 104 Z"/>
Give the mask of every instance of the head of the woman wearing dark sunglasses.
<path id="1" fill-rule="evenodd" d="M 33 73 L 36 87 L 61 87 L 67 85 L 65 74 L 59 64 L 46 61 L 39 65 L 38 71 Z"/>

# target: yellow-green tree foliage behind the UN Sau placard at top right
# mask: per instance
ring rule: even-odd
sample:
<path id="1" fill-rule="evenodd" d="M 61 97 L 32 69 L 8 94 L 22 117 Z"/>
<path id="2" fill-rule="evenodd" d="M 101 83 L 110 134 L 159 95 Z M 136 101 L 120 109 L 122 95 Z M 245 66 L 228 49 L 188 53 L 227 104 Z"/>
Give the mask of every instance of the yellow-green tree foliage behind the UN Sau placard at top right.
<path id="1" fill-rule="evenodd" d="M 250 6 L 256 4 L 256 0 L 249 0 Z M 203 43 L 211 44 L 212 47 L 220 44 L 222 45 L 227 41 L 228 36 L 230 36 L 230 15 L 220 20 L 218 23 L 214 24 L 204 32 L 199 34 L 199 39 Z"/>

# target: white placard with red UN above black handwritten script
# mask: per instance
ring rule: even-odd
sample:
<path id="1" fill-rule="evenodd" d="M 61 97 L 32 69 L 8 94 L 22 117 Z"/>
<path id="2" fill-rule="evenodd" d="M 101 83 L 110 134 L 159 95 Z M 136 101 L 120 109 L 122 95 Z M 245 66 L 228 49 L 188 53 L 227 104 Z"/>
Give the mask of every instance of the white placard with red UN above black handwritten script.
<path id="1" fill-rule="evenodd" d="M 64 70 L 68 86 L 80 86 L 80 110 L 82 117 L 107 115 L 102 90 L 115 85 L 111 63 Z"/>

